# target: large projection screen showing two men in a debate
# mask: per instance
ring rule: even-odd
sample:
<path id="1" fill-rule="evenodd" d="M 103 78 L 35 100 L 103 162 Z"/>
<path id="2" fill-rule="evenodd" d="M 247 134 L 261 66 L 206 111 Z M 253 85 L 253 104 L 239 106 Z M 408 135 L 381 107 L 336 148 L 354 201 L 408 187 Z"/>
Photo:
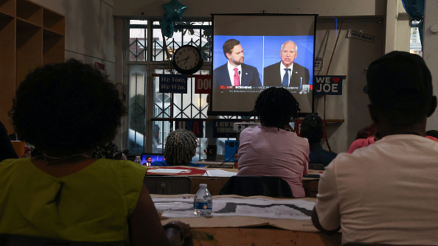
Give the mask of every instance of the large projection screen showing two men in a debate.
<path id="1" fill-rule="evenodd" d="M 317 15 L 212 15 L 209 115 L 254 115 L 270 86 L 284 87 L 313 113 Z"/>

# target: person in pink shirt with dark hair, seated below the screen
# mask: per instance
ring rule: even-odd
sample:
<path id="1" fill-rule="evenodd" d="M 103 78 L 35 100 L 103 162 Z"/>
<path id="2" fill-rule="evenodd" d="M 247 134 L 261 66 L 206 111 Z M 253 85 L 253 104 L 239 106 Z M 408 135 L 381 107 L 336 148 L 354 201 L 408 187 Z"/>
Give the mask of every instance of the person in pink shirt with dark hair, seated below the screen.
<path id="1" fill-rule="evenodd" d="M 241 133 L 237 175 L 280 177 L 289 183 L 294 197 L 305 197 L 302 177 L 309 168 L 309 142 L 286 131 L 300 104 L 288 90 L 271 87 L 257 97 L 254 110 L 261 126 Z"/>

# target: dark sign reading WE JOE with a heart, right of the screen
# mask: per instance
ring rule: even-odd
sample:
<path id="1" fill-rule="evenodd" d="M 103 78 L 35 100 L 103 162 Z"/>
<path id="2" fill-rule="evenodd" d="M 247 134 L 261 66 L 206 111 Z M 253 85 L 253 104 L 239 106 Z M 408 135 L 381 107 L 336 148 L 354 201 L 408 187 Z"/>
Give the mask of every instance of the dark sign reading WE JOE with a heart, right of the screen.
<path id="1" fill-rule="evenodd" d="M 314 76 L 315 95 L 342 95 L 343 76 Z"/>

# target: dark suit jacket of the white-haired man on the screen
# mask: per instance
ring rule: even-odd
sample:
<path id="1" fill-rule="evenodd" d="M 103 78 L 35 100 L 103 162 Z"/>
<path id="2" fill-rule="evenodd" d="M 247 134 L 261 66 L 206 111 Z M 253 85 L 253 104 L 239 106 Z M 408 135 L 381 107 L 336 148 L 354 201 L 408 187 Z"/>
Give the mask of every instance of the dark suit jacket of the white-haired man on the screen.
<path id="1" fill-rule="evenodd" d="M 283 78 L 279 71 L 280 63 L 281 61 L 263 69 L 263 86 L 283 86 Z M 302 80 L 300 78 L 302 78 Z M 298 63 L 293 63 L 291 82 L 289 83 L 289 86 L 300 88 L 300 84 L 309 84 L 309 69 Z"/>

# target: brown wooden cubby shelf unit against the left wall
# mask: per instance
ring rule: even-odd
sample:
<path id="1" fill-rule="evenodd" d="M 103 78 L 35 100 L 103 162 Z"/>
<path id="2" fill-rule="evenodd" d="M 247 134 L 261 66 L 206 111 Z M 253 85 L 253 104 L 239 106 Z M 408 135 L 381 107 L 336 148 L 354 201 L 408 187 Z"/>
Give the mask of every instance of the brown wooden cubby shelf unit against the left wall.
<path id="1" fill-rule="evenodd" d="M 64 61 L 64 35 L 63 15 L 28 0 L 0 0 L 0 121 L 8 134 L 15 91 L 36 67 Z"/>

